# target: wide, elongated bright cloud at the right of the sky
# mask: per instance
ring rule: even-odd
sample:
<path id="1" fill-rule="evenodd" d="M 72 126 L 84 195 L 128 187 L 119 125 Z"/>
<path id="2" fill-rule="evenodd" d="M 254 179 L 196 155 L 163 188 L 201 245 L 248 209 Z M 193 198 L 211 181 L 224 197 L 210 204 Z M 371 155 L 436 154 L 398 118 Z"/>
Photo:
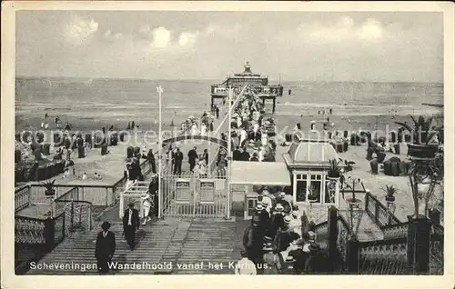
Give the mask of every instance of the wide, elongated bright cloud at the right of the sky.
<path id="1" fill-rule="evenodd" d="M 368 18 L 361 25 L 356 25 L 351 17 L 343 16 L 332 25 L 299 25 L 298 34 L 309 37 L 309 40 L 319 43 L 340 43 L 352 41 L 379 41 L 384 28 L 373 18 Z"/>

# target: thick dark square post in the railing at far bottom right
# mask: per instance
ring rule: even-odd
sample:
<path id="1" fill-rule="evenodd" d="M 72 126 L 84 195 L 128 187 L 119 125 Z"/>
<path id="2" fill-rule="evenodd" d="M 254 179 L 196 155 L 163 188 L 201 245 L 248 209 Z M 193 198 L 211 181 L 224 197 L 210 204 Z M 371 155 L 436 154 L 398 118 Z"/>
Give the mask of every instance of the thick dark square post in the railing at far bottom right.
<path id="1" fill-rule="evenodd" d="M 425 216 L 408 216 L 408 273 L 430 273 L 431 221 Z"/>

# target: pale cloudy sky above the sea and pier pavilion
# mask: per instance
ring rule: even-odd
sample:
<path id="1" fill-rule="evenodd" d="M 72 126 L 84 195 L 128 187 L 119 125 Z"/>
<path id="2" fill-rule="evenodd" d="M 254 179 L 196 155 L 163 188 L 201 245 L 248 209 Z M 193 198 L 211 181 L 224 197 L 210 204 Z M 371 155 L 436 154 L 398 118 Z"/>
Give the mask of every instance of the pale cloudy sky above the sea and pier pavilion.
<path id="1" fill-rule="evenodd" d="M 16 75 L 283 80 L 443 79 L 438 13 L 21 11 Z"/>

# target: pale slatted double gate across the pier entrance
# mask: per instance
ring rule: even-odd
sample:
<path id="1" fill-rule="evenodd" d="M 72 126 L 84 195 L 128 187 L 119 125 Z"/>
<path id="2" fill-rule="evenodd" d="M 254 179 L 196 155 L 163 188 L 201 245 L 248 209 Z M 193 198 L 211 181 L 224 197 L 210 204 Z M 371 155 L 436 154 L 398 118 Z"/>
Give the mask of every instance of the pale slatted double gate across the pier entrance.
<path id="1" fill-rule="evenodd" d="M 184 172 L 161 178 L 163 215 L 226 217 L 229 205 L 226 174 L 202 176 Z"/>

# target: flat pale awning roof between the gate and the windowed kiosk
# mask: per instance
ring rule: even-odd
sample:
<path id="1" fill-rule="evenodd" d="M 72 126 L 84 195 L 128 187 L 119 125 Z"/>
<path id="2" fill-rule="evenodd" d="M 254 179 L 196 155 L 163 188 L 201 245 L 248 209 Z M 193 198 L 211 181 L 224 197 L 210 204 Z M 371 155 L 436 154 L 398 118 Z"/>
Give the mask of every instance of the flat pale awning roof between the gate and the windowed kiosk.
<path id="1" fill-rule="evenodd" d="M 283 162 L 232 162 L 231 184 L 291 185 Z"/>

